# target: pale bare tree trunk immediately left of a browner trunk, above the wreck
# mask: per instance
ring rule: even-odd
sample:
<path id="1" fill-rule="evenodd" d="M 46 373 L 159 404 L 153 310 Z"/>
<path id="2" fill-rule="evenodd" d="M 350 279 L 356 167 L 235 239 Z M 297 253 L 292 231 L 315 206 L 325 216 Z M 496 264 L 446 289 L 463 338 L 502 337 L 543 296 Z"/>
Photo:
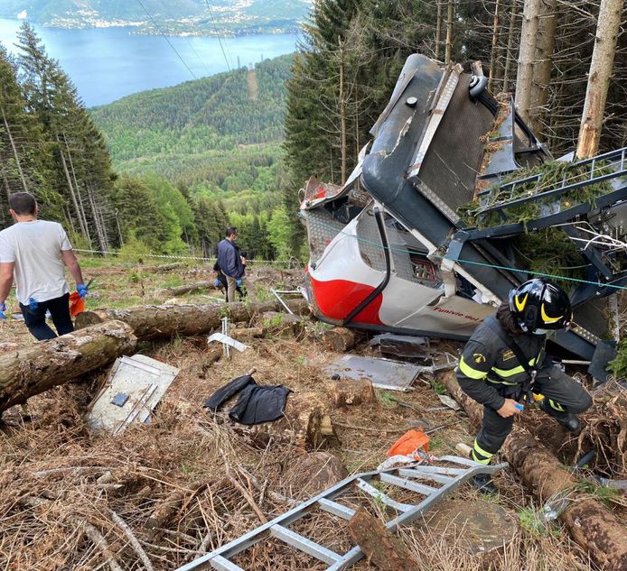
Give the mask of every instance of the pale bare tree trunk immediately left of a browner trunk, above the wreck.
<path id="1" fill-rule="evenodd" d="M 541 0 L 525 0 L 520 31 L 519 69 L 516 77 L 516 106 L 519 115 L 528 122 L 534 101 L 533 69 L 536 62 L 538 22 Z"/>

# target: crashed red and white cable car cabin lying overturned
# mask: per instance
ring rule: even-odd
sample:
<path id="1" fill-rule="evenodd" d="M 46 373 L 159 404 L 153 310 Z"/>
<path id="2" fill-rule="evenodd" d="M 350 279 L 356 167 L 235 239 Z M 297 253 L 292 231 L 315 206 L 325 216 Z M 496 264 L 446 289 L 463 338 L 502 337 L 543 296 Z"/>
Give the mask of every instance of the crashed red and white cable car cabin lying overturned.
<path id="1" fill-rule="evenodd" d="M 543 185 L 541 173 L 515 180 L 517 170 L 552 157 L 511 97 L 497 100 L 486 85 L 481 71 L 407 59 L 370 131 L 370 151 L 346 183 L 312 178 L 304 189 L 309 299 L 317 317 L 335 325 L 464 340 L 534 277 L 520 269 L 516 236 L 558 226 L 584 254 L 585 278 L 570 290 L 576 327 L 553 341 L 591 360 L 607 334 L 607 296 L 627 279 L 624 250 L 615 247 L 627 228 L 627 149 L 570 162 L 578 176 L 558 183 Z M 517 194 L 529 180 L 539 190 Z M 560 199 L 600 181 L 606 190 L 594 201 Z M 476 219 L 497 223 L 465 223 L 457 210 L 473 200 Z M 538 216 L 525 224 L 511 216 L 534 201 Z"/>

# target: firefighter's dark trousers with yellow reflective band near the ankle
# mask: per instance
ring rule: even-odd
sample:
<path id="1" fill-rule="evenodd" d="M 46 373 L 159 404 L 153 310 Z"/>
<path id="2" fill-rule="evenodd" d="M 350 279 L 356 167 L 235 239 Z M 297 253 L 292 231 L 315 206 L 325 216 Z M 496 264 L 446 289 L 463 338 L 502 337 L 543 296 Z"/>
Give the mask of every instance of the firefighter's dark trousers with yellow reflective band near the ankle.
<path id="1" fill-rule="evenodd" d="M 496 388 L 502 396 L 511 398 L 511 387 L 501 389 L 497 385 Z M 536 394 L 544 395 L 551 414 L 555 417 L 579 414 L 592 406 L 592 397 L 588 391 L 556 365 L 538 371 L 532 390 Z M 482 464 L 490 462 L 510 434 L 515 416 L 503 419 L 496 410 L 483 407 L 483 423 L 474 440 L 473 460 Z"/>

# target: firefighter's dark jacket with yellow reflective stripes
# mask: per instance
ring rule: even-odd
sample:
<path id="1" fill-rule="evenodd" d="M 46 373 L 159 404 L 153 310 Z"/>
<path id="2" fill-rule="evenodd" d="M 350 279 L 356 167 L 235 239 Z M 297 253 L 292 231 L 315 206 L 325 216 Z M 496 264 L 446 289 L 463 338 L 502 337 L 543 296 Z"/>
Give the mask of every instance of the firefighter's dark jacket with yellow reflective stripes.
<path id="1" fill-rule="evenodd" d="M 519 399 L 523 383 L 529 381 L 529 373 L 495 329 L 510 336 L 496 315 L 485 319 L 464 347 L 455 373 L 463 391 L 474 401 L 499 410 L 506 397 Z M 545 364 L 546 336 L 523 333 L 510 337 L 519 345 L 529 366 L 540 369 Z"/>

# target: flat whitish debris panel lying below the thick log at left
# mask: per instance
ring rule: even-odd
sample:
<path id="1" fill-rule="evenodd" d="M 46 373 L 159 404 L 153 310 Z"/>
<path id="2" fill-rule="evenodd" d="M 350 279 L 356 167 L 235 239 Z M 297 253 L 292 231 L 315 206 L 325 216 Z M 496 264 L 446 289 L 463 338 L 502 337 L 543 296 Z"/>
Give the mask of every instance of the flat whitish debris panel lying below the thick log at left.
<path id="1" fill-rule="evenodd" d="M 122 434 L 134 422 L 146 422 L 179 370 L 145 355 L 119 357 L 85 416 L 94 432 Z"/>

